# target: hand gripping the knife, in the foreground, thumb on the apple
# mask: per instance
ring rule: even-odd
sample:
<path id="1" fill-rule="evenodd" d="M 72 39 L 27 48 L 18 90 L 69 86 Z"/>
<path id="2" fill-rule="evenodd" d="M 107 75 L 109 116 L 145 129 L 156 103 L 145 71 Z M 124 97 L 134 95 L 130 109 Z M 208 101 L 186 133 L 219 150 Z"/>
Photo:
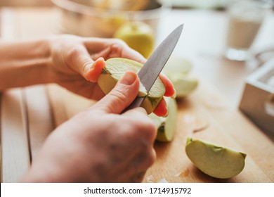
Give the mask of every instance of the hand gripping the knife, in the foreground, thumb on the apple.
<path id="1" fill-rule="evenodd" d="M 156 157 L 156 127 L 143 108 L 120 115 L 138 89 L 136 73 L 127 71 L 109 94 L 52 132 L 23 182 L 141 182 Z"/>

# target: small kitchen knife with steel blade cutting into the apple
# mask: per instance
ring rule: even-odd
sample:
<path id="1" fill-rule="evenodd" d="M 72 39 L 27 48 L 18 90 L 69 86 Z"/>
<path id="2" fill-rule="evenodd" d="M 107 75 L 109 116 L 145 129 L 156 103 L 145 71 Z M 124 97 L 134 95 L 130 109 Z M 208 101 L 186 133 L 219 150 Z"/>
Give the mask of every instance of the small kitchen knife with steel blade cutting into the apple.
<path id="1" fill-rule="evenodd" d="M 145 62 L 141 70 L 138 72 L 140 82 L 143 84 L 146 91 L 150 91 L 150 88 L 157 80 L 159 73 L 169 60 L 169 57 L 174 51 L 178 39 L 180 38 L 182 30 L 183 24 L 179 25 L 173 32 L 171 32 L 171 34 L 169 34 L 169 36 L 164 39 L 161 44 L 159 44 L 157 49 L 155 49 L 150 58 L 148 58 L 148 61 Z M 145 96 L 137 96 L 124 111 L 141 106 L 144 99 Z"/>

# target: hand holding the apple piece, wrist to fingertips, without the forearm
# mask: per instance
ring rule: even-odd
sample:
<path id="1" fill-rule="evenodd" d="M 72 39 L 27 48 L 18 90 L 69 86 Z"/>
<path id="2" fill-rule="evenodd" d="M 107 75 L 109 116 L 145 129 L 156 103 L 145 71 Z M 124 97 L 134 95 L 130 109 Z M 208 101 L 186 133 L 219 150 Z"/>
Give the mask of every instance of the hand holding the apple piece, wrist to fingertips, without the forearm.
<path id="1" fill-rule="evenodd" d="M 81 38 L 63 35 L 51 39 L 51 78 L 66 89 L 81 96 L 99 100 L 105 94 L 96 83 L 108 58 L 130 58 L 145 63 L 140 53 L 129 48 L 119 39 Z M 79 75 L 80 74 L 80 75 Z M 170 80 L 160 75 L 166 86 L 165 96 L 174 96 L 175 90 Z M 154 112 L 159 116 L 167 115 L 167 106 L 160 101 Z"/>

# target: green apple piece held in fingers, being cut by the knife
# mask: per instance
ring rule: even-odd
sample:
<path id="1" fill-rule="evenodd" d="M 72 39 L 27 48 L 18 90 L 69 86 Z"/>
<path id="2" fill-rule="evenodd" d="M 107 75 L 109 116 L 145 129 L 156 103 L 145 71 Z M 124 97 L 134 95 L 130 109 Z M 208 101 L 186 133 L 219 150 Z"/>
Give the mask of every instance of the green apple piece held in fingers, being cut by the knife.
<path id="1" fill-rule="evenodd" d="M 107 94 L 117 84 L 118 80 L 124 75 L 129 68 L 137 71 L 141 70 L 143 64 L 126 58 L 110 58 L 105 61 L 105 68 L 98 77 L 98 85 L 102 91 Z M 166 88 L 162 81 L 157 78 L 150 91 L 146 91 L 143 84 L 140 83 L 138 96 L 145 97 L 141 107 L 145 108 L 148 114 L 152 113 L 161 101 Z"/>

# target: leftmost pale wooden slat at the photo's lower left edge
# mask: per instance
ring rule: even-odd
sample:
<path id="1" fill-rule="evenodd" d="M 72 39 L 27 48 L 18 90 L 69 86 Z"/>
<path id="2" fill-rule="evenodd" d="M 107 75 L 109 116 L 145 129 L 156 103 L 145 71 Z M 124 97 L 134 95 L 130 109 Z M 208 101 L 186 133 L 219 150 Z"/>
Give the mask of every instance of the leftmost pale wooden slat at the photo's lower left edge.
<path id="1" fill-rule="evenodd" d="M 30 167 L 27 117 L 22 89 L 1 96 L 1 182 L 18 182 Z"/>

